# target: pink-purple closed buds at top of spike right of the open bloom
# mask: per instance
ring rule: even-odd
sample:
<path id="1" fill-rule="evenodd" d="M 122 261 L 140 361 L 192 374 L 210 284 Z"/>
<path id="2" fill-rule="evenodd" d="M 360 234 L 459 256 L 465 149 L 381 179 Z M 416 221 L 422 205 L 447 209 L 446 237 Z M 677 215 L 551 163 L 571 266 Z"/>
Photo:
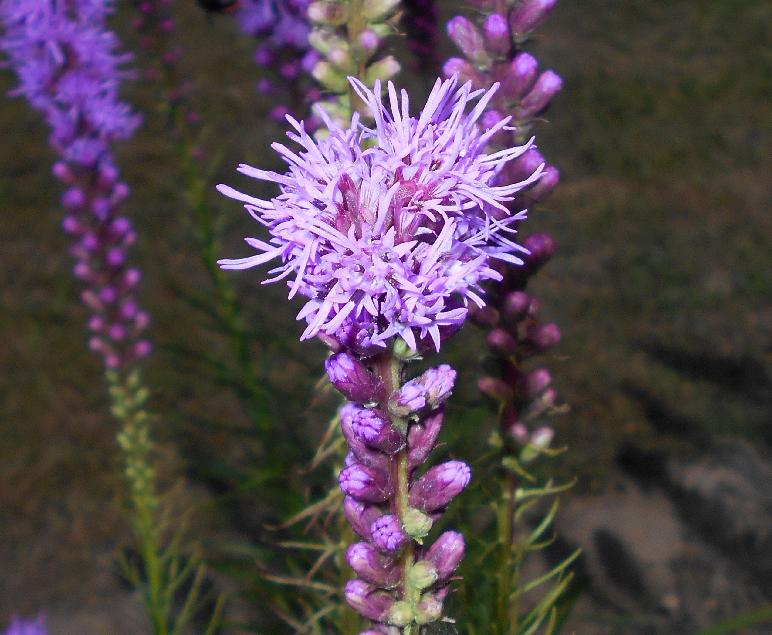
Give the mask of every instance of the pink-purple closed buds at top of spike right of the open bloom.
<path id="1" fill-rule="evenodd" d="M 521 51 L 534 29 L 547 19 L 556 0 L 520 0 L 507 4 L 502 0 L 470 0 L 479 12 L 482 28 L 457 15 L 447 25 L 450 39 L 466 59 L 452 57 L 445 62 L 445 76 L 459 73 L 475 88 L 488 88 L 500 83 L 501 90 L 483 115 L 486 126 L 504 117 L 512 117 L 510 127 L 492 140 L 493 147 L 509 147 L 530 133 L 533 123 L 550 105 L 550 100 L 563 86 L 563 81 L 551 70 L 539 72 L 539 62 L 528 52 Z M 519 181 L 533 167 L 544 164 L 536 150 L 524 154 L 510 164 L 502 174 L 503 182 Z M 520 193 L 510 209 L 520 211 L 550 195 L 560 179 L 557 168 L 544 168 L 544 177 L 533 187 Z"/>

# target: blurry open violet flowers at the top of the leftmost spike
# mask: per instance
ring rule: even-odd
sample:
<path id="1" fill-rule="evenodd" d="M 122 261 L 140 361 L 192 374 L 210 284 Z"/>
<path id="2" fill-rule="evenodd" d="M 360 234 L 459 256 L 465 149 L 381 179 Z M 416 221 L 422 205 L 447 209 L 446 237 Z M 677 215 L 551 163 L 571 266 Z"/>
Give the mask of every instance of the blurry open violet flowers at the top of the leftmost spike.
<path id="1" fill-rule="evenodd" d="M 141 121 L 118 99 L 116 36 L 105 31 L 110 2 L 3 0 L 0 49 L 19 76 L 19 88 L 52 127 L 50 142 L 76 164 L 110 163 L 110 143 L 131 136 Z"/>

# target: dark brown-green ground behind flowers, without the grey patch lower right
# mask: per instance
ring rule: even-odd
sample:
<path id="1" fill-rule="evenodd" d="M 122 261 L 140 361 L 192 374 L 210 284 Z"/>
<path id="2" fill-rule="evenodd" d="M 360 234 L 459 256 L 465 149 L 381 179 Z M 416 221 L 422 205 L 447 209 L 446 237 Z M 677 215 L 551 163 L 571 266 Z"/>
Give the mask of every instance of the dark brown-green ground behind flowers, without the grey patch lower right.
<path id="1" fill-rule="evenodd" d="M 446 18 L 452 9 L 443 7 Z M 130 13 L 124 6 L 114 20 L 127 48 L 137 43 Z M 181 75 L 194 79 L 192 99 L 212 126 L 209 146 L 225 147 L 218 178 L 244 184 L 233 172 L 241 160 L 278 167 L 267 147 L 281 127 L 253 90 L 253 43 L 187 0 L 178 37 Z M 564 333 L 548 365 L 571 404 L 555 424 L 571 448 L 559 470 L 579 475 L 577 491 L 601 491 L 623 446 L 689 454 L 705 434 L 772 442 L 770 45 L 768 2 L 560 0 L 531 49 L 564 77 L 549 125 L 537 128 L 563 180 L 523 229 L 548 231 L 559 245 L 532 291 Z M 429 85 L 404 80 L 416 94 Z M 0 91 L 14 85 L 3 71 Z M 145 374 L 168 422 L 157 437 L 171 482 L 195 474 L 192 416 L 239 424 L 243 415 L 231 393 L 175 352 L 225 355 L 226 347 L 183 299 L 209 282 L 152 90 L 127 87 L 127 99 L 151 114 L 118 161 L 133 189 L 126 211 L 140 235 L 134 262 L 157 347 Z M 50 175 L 55 157 L 22 100 L 3 100 L 0 130 L 0 627 L 11 613 L 45 610 L 52 635 L 141 632 L 137 606 L 110 573 L 116 542 L 127 537 L 116 504 L 117 424 L 100 360 L 85 348 L 86 311 Z M 232 223 L 224 254 L 241 248 L 248 227 Z M 254 275 L 233 279 L 261 328 L 293 341 L 300 329 L 284 289 L 259 287 Z M 470 329 L 454 356 L 466 364 L 459 404 L 473 407 L 480 339 Z M 292 359 L 273 356 L 265 375 L 293 397 L 276 405 L 277 417 L 313 436 L 329 410 L 307 414 L 305 395 L 324 353 L 289 346 Z M 451 437 L 468 434 L 464 407 Z M 249 454 L 207 434 L 231 458 Z M 232 532 L 211 488 L 188 478 L 185 491 L 201 535 Z"/>

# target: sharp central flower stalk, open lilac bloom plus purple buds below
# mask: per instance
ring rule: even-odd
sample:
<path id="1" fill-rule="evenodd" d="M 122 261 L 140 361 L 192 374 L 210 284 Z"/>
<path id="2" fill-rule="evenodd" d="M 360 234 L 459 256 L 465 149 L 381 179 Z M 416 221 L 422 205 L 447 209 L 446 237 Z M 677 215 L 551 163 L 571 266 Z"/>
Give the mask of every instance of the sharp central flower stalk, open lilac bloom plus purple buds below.
<path id="1" fill-rule="evenodd" d="M 289 137 L 303 150 L 273 147 L 289 171 L 239 167 L 278 183 L 279 197 L 262 201 L 218 187 L 244 201 L 272 238 L 246 238 L 261 253 L 219 262 L 248 269 L 281 258 L 273 280 L 294 274 L 289 296 L 308 298 L 298 315 L 307 324 L 301 339 L 317 336 L 330 347 L 327 375 L 351 402 L 340 413 L 350 453 L 339 482 L 344 515 L 362 542 L 347 550 L 357 578 L 345 597 L 378 632 L 411 635 L 442 619 L 464 541 L 453 531 L 431 543 L 428 535 L 470 471 L 453 460 L 419 474 L 435 448 L 455 371 L 443 365 L 405 381 L 405 366 L 439 350 L 471 304 L 484 306 L 480 285 L 501 279 L 489 259 L 522 264 L 515 255 L 522 248 L 510 237 L 523 215 L 507 217 L 503 203 L 541 171 L 496 184 L 507 162 L 530 147 L 484 154 L 508 123 L 479 126 L 498 86 L 481 94 L 469 83 L 456 90 L 455 77 L 438 80 L 416 119 L 408 94 L 398 97 L 391 83 L 387 109 L 380 82 L 371 92 L 349 81 L 374 127 L 354 113 L 344 130 L 320 108 L 328 135 L 314 140 L 288 117 L 295 128 Z"/>

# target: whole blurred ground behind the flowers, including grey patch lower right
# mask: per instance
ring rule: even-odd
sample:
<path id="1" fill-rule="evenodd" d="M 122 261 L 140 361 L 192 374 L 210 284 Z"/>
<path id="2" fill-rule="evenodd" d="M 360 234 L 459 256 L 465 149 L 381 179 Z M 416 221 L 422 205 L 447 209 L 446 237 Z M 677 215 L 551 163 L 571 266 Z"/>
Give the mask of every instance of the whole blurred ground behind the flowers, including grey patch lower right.
<path id="1" fill-rule="evenodd" d="M 214 181 L 270 195 L 234 171 L 241 161 L 281 167 L 268 145 L 283 127 L 254 90 L 254 42 L 228 16 L 175 5 L 180 75 L 194 82 L 208 150 L 224 152 Z M 459 5 L 440 8 L 444 24 Z M 132 11 L 124 3 L 112 20 L 126 49 L 138 45 Z M 772 5 L 559 0 L 540 33 L 529 50 L 564 87 L 537 144 L 562 181 L 522 230 L 547 231 L 558 245 L 530 291 L 563 332 L 545 365 L 571 405 L 551 422 L 569 448 L 557 475 L 578 477 L 560 541 L 584 547 L 585 593 L 567 629 L 692 633 L 772 601 Z M 444 34 L 440 52 L 455 54 Z M 405 72 L 399 82 L 421 103 L 433 79 Z M 0 91 L 12 86 L 2 71 Z M 227 351 L 188 301 L 208 292 L 208 278 L 153 91 L 126 86 L 150 114 L 117 160 L 132 187 L 125 211 L 139 234 L 141 302 L 153 316 L 144 373 L 162 478 L 180 483 L 198 535 L 249 537 L 259 504 L 223 501 L 216 475 L 259 448 L 224 431 L 243 415 L 198 357 Z M 86 350 L 54 154 L 22 100 L 3 98 L 0 135 L 0 628 L 12 613 L 44 610 L 52 635 L 144 633 L 114 574 L 115 545 L 127 539 L 117 424 L 100 360 Z M 232 205 L 223 255 L 245 253 L 244 215 Z M 232 279 L 263 334 L 277 421 L 311 448 L 334 407 L 312 399 L 323 346 L 296 343 L 298 305 L 282 286 L 260 286 L 252 270 Z M 486 437 L 482 341 L 468 325 L 448 346 L 461 370 L 450 444 L 474 448 Z M 306 459 L 298 454 L 288 471 Z M 244 610 L 250 619 L 256 609 Z"/>

